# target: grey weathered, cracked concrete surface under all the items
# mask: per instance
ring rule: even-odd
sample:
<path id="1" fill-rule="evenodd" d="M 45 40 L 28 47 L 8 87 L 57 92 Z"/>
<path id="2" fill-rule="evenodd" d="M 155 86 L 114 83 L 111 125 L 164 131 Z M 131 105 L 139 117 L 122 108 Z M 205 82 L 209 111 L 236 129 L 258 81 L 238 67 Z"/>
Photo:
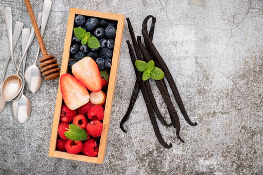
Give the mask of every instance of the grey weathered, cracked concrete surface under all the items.
<path id="1" fill-rule="evenodd" d="M 43 0 L 31 3 L 37 12 Z M 12 7 L 14 22 L 21 20 L 29 28 L 31 23 L 23 0 L 0 0 L 0 4 L 2 77 L 9 49 L 3 8 Z M 44 81 L 36 94 L 26 92 L 32 101 L 32 114 L 26 123 L 18 124 L 13 119 L 10 103 L 0 113 L 0 174 L 263 173 L 262 0 L 53 0 L 44 41 L 59 63 L 70 7 L 124 14 L 130 18 L 136 35 L 141 35 L 144 17 L 154 15 L 157 21 L 153 42 L 175 79 L 189 116 L 198 125 L 189 126 L 179 113 L 180 135 L 185 140 L 181 143 L 174 128 L 159 123 L 164 140 L 173 144 L 170 149 L 163 148 L 139 93 L 124 125 L 127 133 L 121 131 L 119 123 L 135 82 L 125 24 L 104 163 L 48 156 L 57 79 Z M 36 50 L 34 40 L 27 65 L 33 62 Z M 14 54 L 21 56 L 21 40 Z M 8 74 L 12 72 L 10 66 Z M 159 91 L 150 82 L 168 120 Z"/>

